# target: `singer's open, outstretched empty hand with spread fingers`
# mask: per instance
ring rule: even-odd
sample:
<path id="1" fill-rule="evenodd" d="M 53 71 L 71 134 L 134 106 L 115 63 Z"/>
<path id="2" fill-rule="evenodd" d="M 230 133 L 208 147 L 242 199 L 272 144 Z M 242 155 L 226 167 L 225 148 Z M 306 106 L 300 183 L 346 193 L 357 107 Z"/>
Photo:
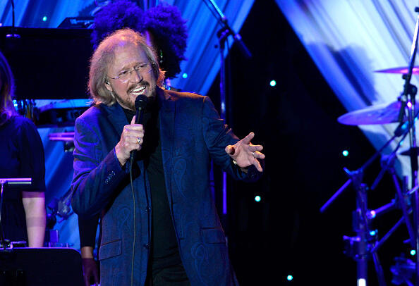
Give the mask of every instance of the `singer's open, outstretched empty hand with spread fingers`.
<path id="1" fill-rule="evenodd" d="M 257 158 L 265 158 L 265 154 L 260 153 L 263 147 L 262 145 L 253 145 L 250 141 L 255 137 L 255 133 L 250 132 L 248 136 L 241 139 L 234 145 L 226 147 L 226 153 L 237 162 L 237 165 L 241 168 L 247 168 L 253 165 L 259 172 L 262 172 L 262 166 L 260 166 Z"/>

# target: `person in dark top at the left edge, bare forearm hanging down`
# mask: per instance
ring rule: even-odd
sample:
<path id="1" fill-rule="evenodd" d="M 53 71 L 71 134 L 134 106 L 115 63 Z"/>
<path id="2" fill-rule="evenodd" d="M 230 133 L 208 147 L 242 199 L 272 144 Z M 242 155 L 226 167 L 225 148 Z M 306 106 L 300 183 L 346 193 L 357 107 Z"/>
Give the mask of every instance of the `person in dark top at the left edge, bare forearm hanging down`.
<path id="1" fill-rule="evenodd" d="M 4 187 L 1 228 L 6 240 L 43 247 L 46 225 L 44 147 L 35 124 L 16 112 L 13 92 L 13 74 L 0 53 L 0 178 L 32 179 L 28 187 Z"/>

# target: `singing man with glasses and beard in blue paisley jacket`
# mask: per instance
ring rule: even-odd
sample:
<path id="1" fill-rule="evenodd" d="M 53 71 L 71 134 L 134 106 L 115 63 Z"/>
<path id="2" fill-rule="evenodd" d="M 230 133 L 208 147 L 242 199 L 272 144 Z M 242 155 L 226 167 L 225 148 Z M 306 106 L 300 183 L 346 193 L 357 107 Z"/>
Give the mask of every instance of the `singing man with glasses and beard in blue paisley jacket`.
<path id="1" fill-rule="evenodd" d="M 163 80 L 138 32 L 118 30 L 99 44 L 89 79 L 95 105 L 75 121 L 73 210 L 102 213 L 102 286 L 238 285 L 209 192 L 210 161 L 253 182 L 263 147 L 251 143 L 253 132 L 233 135 L 209 97 L 162 89 Z M 148 102 L 142 124 L 139 96 Z"/>

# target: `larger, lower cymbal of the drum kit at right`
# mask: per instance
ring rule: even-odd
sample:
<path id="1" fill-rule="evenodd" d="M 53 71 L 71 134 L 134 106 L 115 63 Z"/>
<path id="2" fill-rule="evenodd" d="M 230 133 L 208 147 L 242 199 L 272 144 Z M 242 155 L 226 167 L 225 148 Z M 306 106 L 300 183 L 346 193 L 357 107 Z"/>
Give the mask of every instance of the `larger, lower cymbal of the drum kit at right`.
<path id="1" fill-rule="evenodd" d="M 394 101 L 390 104 L 377 104 L 368 106 L 357 111 L 351 111 L 338 118 L 338 122 L 345 125 L 371 125 L 399 122 L 399 111 L 401 101 Z M 419 112 L 419 104 L 415 105 L 416 115 Z M 403 121 L 407 118 L 404 116 Z"/>

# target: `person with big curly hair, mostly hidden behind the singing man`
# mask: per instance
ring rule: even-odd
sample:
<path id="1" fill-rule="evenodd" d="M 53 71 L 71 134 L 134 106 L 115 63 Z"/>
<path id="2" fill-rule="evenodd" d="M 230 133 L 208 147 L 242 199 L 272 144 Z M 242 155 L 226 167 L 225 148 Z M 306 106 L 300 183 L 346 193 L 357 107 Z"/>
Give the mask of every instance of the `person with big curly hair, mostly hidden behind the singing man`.
<path id="1" fill-rule="evenodd" d="M 180 73 L 181 61 L 186 60 L 184 54 L 188 35 L 186 21 L 183 20 L 181 11 L 176 6 L 162 4 L 142 11 L 132 1 L 115 1 L 95 14 L 92 31 L 93 48 L 96 49 L 99 42 L 111 32 L 124 27 L 142 33 L 147 39 L 147 44 L 157 54 L 160 68 L 165 71 L 163 87 L 178 90 L 171 87 L 170 79 Z M 78 218 L 83 277 L 86 286 L 99 285 L 99 268 L 94 255 L 98 222 L 99 215 Z M 97 249 L 99 249 L 99 244 Z"/>

